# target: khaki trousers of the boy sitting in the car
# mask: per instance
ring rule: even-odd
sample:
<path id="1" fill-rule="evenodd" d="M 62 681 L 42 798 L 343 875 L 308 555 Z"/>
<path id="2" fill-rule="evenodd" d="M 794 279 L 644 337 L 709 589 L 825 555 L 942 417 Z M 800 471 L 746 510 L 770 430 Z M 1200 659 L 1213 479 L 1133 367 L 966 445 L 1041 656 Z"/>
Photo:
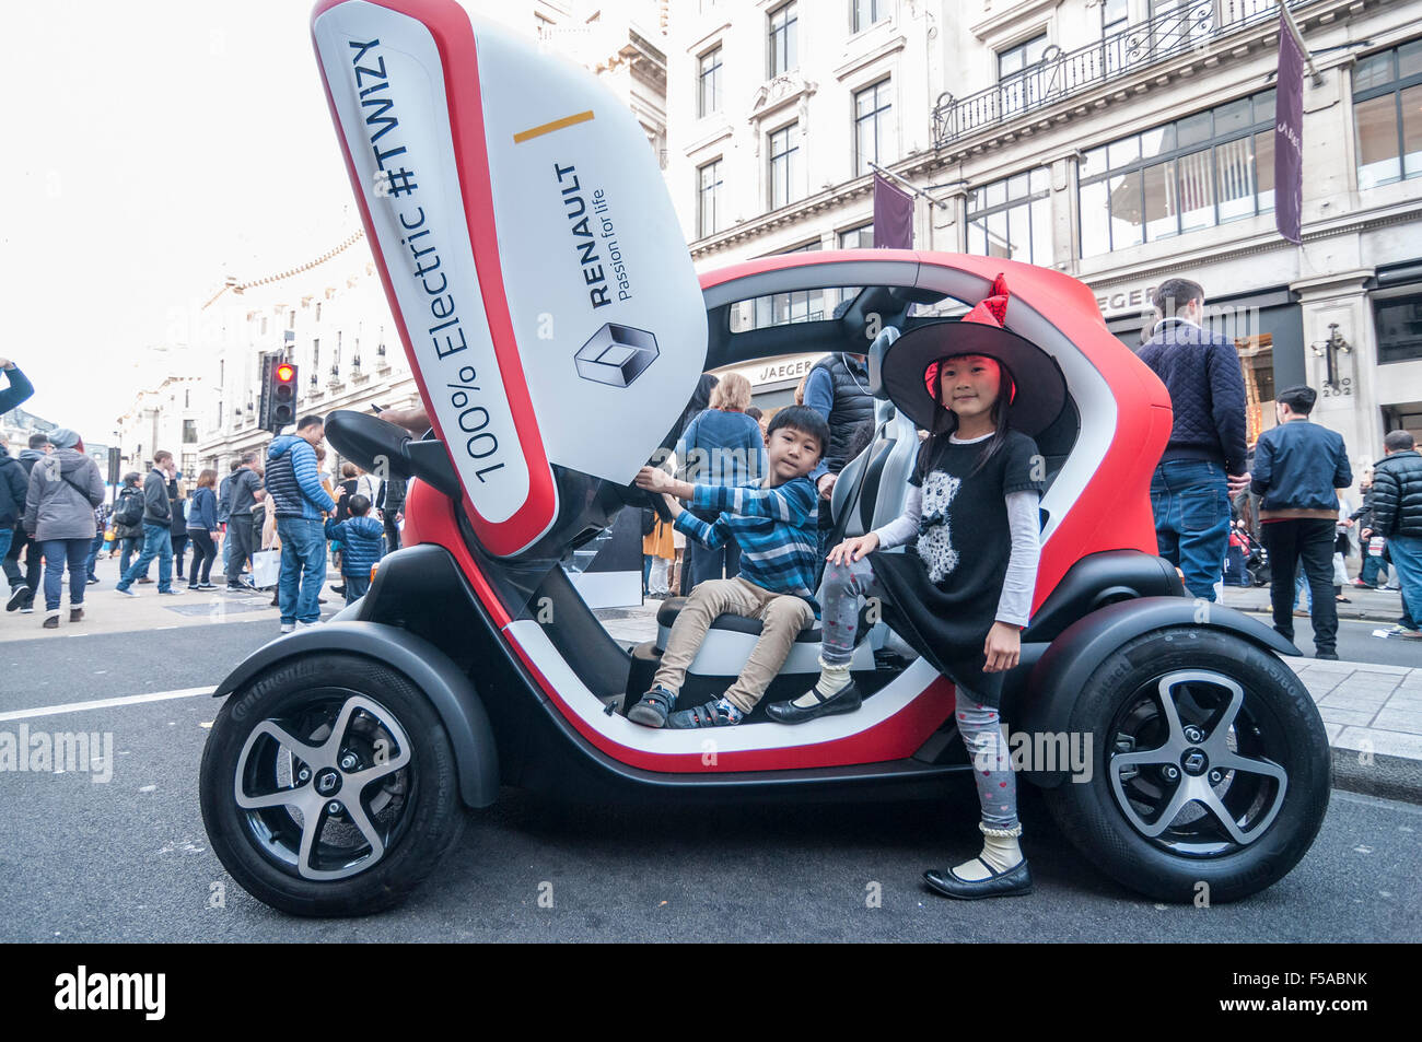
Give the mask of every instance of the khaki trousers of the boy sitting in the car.
<path id="1" fill-rule="evenodd" d="M 815 617 L 809 604 L 799 597 L 762 590 L 739 576 L 711 579 L 691 591 L 687 606 L 677 614 L 661 655 L 656 682 L 667 691 L 681 691 L 687 667 L 697 657 L 701 641 L 717 616 L 729 614 L 761 621 L 761 638 L 745 660 L 739 678 L 725 692 L 741 712 L 749 712 L 761 701 L 765 688 L 785 665 L 795 637 Z"/>

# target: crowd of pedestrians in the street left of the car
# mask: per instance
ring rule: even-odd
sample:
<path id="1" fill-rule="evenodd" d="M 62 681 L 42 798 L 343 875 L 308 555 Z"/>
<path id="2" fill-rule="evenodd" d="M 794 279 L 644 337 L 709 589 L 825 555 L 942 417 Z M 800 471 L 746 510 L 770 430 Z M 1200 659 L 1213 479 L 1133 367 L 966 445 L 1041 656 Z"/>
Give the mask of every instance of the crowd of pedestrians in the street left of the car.
<path id="1" fill-rule="evenodd" d="M 0 358 L 0 371 L 3 414 L 34 387 L 10 360 Z M 36 432 L 18 456 L 0 439 L 6 610 L 33 614 L 43 593 L 41 625 L 58 628 L 68 570 L 68 621 L 81 623 L 85 591 L 100 584 L 95 563 L 107 553 L 118 559 L 114 589 L 121 596 L 138 597 L 135 587 L 154 584 L 156 560 L 159 596 L 181 594 L 186 571 L 189 591 L 272 589 L 282 633 L 316 625 L 330 556 L 341 573 L 331 590 L 346 603 L 364 596 L 374 566 L 400 547 L 405 495 L 404 479 L 377 480 L 354 463 L 344 463 L 333 483 L 323 472 L 323 442 L 321 418 L 306 417 L 264 452 L 233 461 L 220 483 L 213 469 L 183 475 L 173 455 L 159 449 L 148 473 L 125 475 L 108 503 L 98 465 L 77 432 Z M 212 581 L 215 567 L 220 586 Z"/>

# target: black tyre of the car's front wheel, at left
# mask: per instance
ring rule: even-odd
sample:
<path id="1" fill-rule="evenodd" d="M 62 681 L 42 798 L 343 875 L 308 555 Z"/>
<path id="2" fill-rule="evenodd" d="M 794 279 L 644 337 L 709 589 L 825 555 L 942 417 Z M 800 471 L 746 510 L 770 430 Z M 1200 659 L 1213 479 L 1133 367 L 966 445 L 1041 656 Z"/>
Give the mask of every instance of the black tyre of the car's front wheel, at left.
<path id="1" fill-rule="evenodd" d="M 333 753 L 338 762 L 313 772 L 287 739 L 314 751 L 336 724 L 343 732 Z M 307 778 L 299 780 L 299 770 Z M 361 783 L 367 770 L 373 776 Z M 239 783 L 247 800 L 292 799 L 243 807 Z M 317 795 L 319 783 L 337 786 L 336 815 Z M 353 785 L 360 785 L 357 809 L 348 806 Z M 233 692 L 212 724 L 199 790 L 208 839 L 223 867 L 253 897 L 296 915 L 367 915 L 398 904 L 464 830 L 454 749 L 439 715 L 407 677 L 357 655 L 301 655 Z M 304 861 L 306 815 L 292 812 L 297 797 L 321 807 L 314 856 Z M 361 816 L 368 830 L 357 823 Z M 363 861 L 368 864 L 360 867 Z M 313 871 L 350 874 L 310 879 Z"/>

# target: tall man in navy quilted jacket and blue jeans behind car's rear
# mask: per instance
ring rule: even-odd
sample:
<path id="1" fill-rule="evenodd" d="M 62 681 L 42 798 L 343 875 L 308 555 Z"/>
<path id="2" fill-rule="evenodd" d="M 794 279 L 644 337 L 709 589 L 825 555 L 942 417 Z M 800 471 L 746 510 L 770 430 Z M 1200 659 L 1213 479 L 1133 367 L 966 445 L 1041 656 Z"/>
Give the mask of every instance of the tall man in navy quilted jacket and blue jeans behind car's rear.
<path id="1" fill-rule="evenodd" d="M 1155 476 L 1160 556 L 1185 573 L 1196 597 L 1213 601 L 1230 537 L 1230 496 L 1249 488 L 1244 465 L 1244 377 L 1234 343 L 1200 326 L 1204 290 L 1166 279 L 1152 303 L 1160 316 L 1140 361 L 1170 392 L 1175 426 Z"/>

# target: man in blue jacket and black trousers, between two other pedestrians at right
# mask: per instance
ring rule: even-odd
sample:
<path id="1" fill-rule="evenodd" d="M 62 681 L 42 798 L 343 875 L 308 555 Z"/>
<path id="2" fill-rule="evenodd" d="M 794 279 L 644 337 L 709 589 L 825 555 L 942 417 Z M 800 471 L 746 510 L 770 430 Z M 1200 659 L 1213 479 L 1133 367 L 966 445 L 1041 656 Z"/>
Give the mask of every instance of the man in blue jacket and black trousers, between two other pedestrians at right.
<path id="1" fill-rule="evenodd" d="M 1274 628 L 1294 638 L 1294 569 L 1303 562 L 1313 598 L 1314 651 L 1337 660 L 1332 554 L 1338 489 L 1352 485 L 1352 468 L 1342 435 L 1310 422 L 1317 398 L 1304 385 L 1278 392 L 1278 426 L 1264 431 L 1254 446 L 1253 489 L 1260 496 L 1260 533 L 1273 576 Z"/>

